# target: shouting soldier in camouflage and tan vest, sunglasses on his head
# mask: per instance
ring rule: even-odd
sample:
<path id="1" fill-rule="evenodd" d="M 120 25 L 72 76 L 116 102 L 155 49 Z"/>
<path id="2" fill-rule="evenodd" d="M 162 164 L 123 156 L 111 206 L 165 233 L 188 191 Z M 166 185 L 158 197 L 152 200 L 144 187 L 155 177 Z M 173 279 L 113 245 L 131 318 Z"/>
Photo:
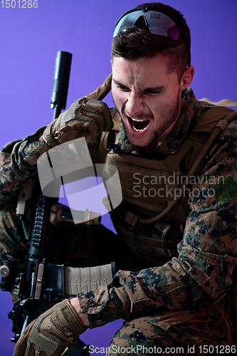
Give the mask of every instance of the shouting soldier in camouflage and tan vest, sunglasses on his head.
<path id="1" fill-rule="evenodd" d="M 85 98 L 48 127 L 2 149 L 1 224 L 10 221 L 2 229 L 3 259 L 23 258 L 27 251 L 14 199 L 36 174 L 38 157 L 52 147 L 85 136 L 94 162 L 100 162 L 98 137 L 110 130 L 112 140 L 114 132 L 107 163 L 120 172 L 123 193 L 122 204 L 111 214 L 117 237 L 111 239 L 101 225 L 80 226 L 80 236 L 75 229 L 72 233 L 83 244 L 72 263 L 79 255 L 85 266 L 117 259 L 121 269 L 112 283 L 41 315 L 21 335 L 14 356 L 25 354 L 27 341 L 26 355 L 38 355 L 45 347 L 51 355 L 61 355 L 87 328 L 120 318 L 125 322 L 107 355 L 188 355 L 190 347 L 201 355 L 204 345 L 214 347 L 214 355 L 221 346 L 230 352 L 234 327 L 229 291 L 237 251 L 236 119 L 230 109 L 196 100 L 189 88 L 194 76 L 190 43 L 184 17 L 170 6 L 149 3 L 129 11 L 117 21 L 112 41 L 111 86 L 120 127 L 115 111 L 112 130 L 104 105 Z M 101 100 L 110 80 L 90 97 Z M 101 115 L 82 122 L 87 105 Z M 214 138 L 212 132 L 217 132 Z M 106 246 L 101 258 L 95 253 L 100 246 L 91 251 L 81 237 L 94 241 L 98 234 Z M 68 235 L 64 247 L 70 260 L 67 240 Z M 113 253 L 111 246 L 116 246 Z M 52 258 L 60 259 L 58 246 L 54 248 Z"/>

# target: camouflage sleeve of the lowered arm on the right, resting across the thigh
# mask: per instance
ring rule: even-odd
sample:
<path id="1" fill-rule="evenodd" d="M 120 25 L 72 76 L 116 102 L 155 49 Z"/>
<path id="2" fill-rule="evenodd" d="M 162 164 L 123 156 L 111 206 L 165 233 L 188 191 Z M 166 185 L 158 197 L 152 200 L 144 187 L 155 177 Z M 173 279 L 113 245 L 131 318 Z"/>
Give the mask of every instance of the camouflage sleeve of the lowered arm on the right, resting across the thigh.
<path id="1" fill-rule="evenodd" d="M 119 271 L 111 285 L 78 295 L 90 328 L 111 320 L 213 305 L 231 288 L 236 266 L 236 122 L 202 163 L 179 257 L 137 273 Z"/>

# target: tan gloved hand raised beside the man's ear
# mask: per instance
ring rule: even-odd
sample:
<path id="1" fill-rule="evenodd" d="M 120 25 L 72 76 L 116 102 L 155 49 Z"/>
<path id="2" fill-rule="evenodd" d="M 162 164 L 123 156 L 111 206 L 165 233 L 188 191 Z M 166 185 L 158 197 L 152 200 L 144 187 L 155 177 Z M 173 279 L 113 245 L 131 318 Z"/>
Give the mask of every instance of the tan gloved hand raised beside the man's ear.
<path id="1" fill-rule="evenodd" d="M 110 91 L 112 75 L 105 80 L 95 92 L 76 100 L 70 108 L 53 120 L 43 132 L 43 139 L 51 147 L 60 143 L 75 140 L 90 135 L 91 139 L 98 137 L 102 131 L 113 127 L 110 109 L 102 98 Z"/>

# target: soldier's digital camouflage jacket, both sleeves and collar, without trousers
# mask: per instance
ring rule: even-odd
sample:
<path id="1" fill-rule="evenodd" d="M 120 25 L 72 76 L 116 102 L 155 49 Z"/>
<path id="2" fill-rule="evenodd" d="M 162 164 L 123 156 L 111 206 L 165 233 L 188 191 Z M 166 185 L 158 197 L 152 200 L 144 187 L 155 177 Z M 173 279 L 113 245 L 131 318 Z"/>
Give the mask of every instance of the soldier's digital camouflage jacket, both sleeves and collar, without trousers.
<path id="1" fill-rule="evenodd" d="M 210 108 L 196 101 L 190 89 L 186 90 L 185 100 L 177 124 L 161 145 L 163 150 L 175 152 L 191 125 Z M 232 120 L 201 163 L 201 177 L 205 179 L 195 184 L 194 194 L 189 198 L 191 213 L 184 240 L 178 245 L 179 257 L 162 267 L 136 273 L 119 271 L 110 286 L 78 295 L 83 312 L 88 313 L 90 328 L 118 318 L 153 315 L 153 322 L 159 320 L 159 326 L 167 329 L 177 320 L 193 318 L 196 308 L 200 315 L 226 300 L 223 297 L 231 288 L 237 251 L 236 127 L 236 120 Z M 36 174 L 38 157 L 49 149 L 42 139 L 44 128 L 1 149 L 0 204 L 14 199 L 23 182 Z M 131 150 L 122 126 L 120 145 L 124 151 Z M 223 177 L 221 182 L 218 177 Z M 209 194 L 211 186 L 215 195 Z M 225 310 L 223 318 L 224 313 Z"/>

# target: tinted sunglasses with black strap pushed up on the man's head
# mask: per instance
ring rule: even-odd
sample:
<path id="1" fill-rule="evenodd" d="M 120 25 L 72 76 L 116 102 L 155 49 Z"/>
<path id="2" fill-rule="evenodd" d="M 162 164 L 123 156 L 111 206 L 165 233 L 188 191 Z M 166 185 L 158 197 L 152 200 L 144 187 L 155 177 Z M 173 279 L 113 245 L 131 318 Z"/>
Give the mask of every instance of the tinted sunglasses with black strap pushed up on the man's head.
<path id="1" fill-rule="evenodd" d="M 178 21 L 170 17 L 170 15 L 168 16 L 162 11 L 157 11 L 147 6 L 127 11 L 115 24 L 113 37 L 117 36 L 119 31 L 126 31 L 127 27 L 132 26 L 145 28 L 151 33 L 172 38 L 174 41 L 177 41 L 179 39 L 179 35 L 181 35 L 188 51 L 188 65 L 190 66 L 191 55 L 186 36 Z"/>

